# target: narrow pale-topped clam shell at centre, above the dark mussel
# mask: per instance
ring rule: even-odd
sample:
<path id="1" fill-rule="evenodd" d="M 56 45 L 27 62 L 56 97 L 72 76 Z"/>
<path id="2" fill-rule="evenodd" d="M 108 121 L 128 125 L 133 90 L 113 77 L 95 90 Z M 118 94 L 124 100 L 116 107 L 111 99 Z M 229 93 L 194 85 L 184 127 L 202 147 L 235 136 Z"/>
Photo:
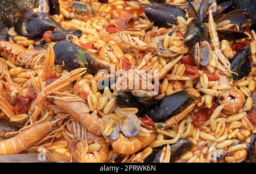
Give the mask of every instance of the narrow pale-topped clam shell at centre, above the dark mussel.
<path id="1" fill-rule="evenodd" d="M 147 92 L 146 90 L 131 90 L 131 94 L 135 97 L 136 100 L 147 105 L 158 102 L 155 97 L 157 94 Z"/>

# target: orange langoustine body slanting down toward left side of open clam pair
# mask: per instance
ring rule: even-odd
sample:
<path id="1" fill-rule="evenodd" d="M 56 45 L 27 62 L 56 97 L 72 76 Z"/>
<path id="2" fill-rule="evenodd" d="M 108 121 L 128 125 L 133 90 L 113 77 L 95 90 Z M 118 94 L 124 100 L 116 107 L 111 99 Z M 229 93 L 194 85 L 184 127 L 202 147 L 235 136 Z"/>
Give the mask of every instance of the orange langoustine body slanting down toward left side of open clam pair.
<path id="1" fill-rule="evenodd" d="M 100 136 L 101 118 L 96 114 L 90 114 L 89 106 L 80 97 L 69 93 L 55 92 L 53 96 L 48 96 L 54 99 L 57 108 L 71 115 L 73 119 L 82 123 L 82 125 L 93 135 Z"/>

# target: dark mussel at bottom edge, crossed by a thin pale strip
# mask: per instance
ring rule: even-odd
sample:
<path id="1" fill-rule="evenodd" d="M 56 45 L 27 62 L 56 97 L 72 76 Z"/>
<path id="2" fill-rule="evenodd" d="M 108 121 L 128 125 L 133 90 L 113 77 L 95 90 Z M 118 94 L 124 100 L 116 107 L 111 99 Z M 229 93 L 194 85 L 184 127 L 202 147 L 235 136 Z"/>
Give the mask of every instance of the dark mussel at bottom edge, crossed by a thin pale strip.
<path id="1" fill-rule="evenodd" d="M 185 152 L 191 150 L 193 143 L 189 139 L 181 138 L 175 144 L 170 146 L 171 156 L 170 161 L 175 161 L 180 158 Z M 144 160 L 145 163 L 159 163 L 164 146 L 153 148 L 152 153 Z"/>

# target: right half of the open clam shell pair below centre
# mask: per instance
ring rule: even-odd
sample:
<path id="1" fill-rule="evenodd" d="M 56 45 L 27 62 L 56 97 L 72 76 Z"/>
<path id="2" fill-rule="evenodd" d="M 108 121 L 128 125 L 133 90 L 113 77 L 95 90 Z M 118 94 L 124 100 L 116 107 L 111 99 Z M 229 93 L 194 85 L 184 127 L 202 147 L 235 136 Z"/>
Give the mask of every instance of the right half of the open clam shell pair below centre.
<path id="1" fill-rule="evenodd" d="M 127 137 L 137 136 L 141 130 L 141 123 L 133 113 L 124 113 L 120 122 L 123 135 Z"/>

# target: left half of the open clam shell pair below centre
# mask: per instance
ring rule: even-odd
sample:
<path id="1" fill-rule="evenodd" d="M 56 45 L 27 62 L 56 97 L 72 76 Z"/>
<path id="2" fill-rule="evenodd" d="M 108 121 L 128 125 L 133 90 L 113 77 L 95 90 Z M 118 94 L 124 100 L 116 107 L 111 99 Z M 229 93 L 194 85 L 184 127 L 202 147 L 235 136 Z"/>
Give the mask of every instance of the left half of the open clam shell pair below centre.
<path id="1" fill-rule="evenodd" d="M 112 132 L 108 136 L 106 136 L 105 135 L 105 130 L 109 129 L 109 126 L 112 127 Z M 102 132 L 102 135 L 104 136 L 104 138 L 106 140 L 118 139 L 118 137 L 119 137 L 119 127 L 118 127 L 117 121 L 115 121 L 115 119 L 112 116 L 105 115 L 101 119 L 101 132 Z"/>

